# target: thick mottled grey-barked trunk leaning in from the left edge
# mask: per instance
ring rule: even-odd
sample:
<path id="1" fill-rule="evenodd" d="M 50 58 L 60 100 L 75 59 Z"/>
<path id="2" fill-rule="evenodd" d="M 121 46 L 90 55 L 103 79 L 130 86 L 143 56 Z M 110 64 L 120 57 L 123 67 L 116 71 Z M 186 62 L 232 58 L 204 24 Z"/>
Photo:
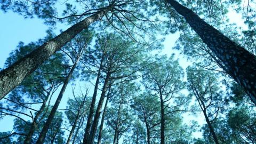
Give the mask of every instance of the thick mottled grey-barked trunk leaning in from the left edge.
<path id="1" fill-rule="evenodd" d="M 47 60 L 53 53 L 59 51 L 60 48 L 74 38 L 83 29 L 87 28 L 91 23 L 102 18 L 105 11 L 99 11 L 90 17 L 76 23 L 69 29 L 44 43 L 36 50 L 27 54 L 22 59 L 13 63 L 10 67 L 0 71 L 0 99 L 2 99 L 7 93 L 19 85 L 23 79 L 31 74 L 39 65 Z"/>

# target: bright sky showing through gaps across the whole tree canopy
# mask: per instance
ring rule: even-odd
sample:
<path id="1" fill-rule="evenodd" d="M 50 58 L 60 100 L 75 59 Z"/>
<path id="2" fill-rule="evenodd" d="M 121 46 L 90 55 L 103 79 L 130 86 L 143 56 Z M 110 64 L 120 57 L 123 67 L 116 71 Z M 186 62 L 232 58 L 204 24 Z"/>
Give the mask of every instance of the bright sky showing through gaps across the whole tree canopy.
<path id="1" fill-rule="evenodd" d="M 238 26 L 246 28 L 243 22 L 241 22 L 241 15 L 236 14 L 234 11 L 228 13 L 228 17 L 231 23 L 237 23 Z M 0 68 L 4 68 L 4 62 L 7 57 L 9 57 L 9 53 L 17 48 L 19 42 L 24 42 L 28 44 L 29 42 L 35 42 L 39 38 L 43 38 L 46 36 L 46 30 L 49 28 L 44 25 L 43 21 L 37 18 L 34 19 L 24 19 L 21 15 L 13 12 L 3 13 L 0 11 Z M 55 34 L 59 34 L 60 29 L 67 29 L 68 26 L 62 24 L 56 26 L 58 29 L 55 29 Z M 191 65 L 190 61 L 187 61 L 186 58 L 183 58 L 183 55 L 180 55 L 177 50 L 173 50 L 175 41 L 179 37 L 178 33 L 167 35 L 164 42 L 164 49 L 161 54 L 171 55 L 175 53 L 175 58 L 179 59 L 179 63 L 183 69 L 186 69 L 188 65 Z M 91 87 L 92 89 L 93 87 Z M 58 93 L 58 91 L 56 92 Z M 186 94 L 187 92 L 185 92 Z M 65 95 L 71 95 L 71 87 L 67 88 Z M 55 101 L 54 99 L 52 100 Z M 67 97 L 64 97 L 61 101 L 60 107 L 64 109 L 66 107 Z M 204 124 L 203 116 L 192 116 L 185 115 L 185 122 L 189 122 L 189 120 L 194 119 L 198 122 L 198 124 Z M 3 131 L 11 131 L 12 130 L 12 122 L 13 118 L 4 118 L 0 119 L 0 132 Z M 201 137 L 200 133 L 194 134 L 195 137 Z"/>

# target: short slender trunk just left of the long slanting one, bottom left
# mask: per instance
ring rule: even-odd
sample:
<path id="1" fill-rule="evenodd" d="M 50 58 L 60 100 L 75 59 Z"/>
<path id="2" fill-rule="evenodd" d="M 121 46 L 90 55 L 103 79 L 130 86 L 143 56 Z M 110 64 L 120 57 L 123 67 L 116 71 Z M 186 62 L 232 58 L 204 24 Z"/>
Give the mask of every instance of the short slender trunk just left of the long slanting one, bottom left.
<path id="1" fill-rule="evenodd" d="M 33 125 L 31 125 L 31 127 L 29 129 L 29 132 L 28 132 L 27 137 L 26 137 L 26 139 L 24 141 L 24 144 L 29 144 L 30 143 L 30 141 L 31 141 L 31 139 L 33 137 L 33 134 L 35 133 L 36 127 L 37 127 L 37 119 L 43 113 L 44 108 L 46 106 L 46 102 L 49 99 L 50 95 L 51 95 L 51 91 L 47 93 L 47 95 L 46 95 L 46 97 L 45 97 L 45 99 L 43 101 L 43 105 L 41 106 L 41 108 L 39 109 L 37 114 L 35 115 L 34 121 L 33 121 Z"/>

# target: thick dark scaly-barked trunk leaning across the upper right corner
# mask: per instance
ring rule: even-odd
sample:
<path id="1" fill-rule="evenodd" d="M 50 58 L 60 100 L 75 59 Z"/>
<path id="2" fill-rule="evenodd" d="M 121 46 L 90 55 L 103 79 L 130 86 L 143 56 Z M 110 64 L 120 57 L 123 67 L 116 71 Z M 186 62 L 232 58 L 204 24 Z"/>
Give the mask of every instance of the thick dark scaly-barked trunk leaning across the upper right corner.
<path id="1" fill-rule="evenodd" d="M 224 63 L 226 72 L 243 86 L 256 105 L 256 57 L 243 47 L 231 41 L 198 17 L 196 13 L 174 0 L 166 0 L 181 14 L 203 42 Z"/>

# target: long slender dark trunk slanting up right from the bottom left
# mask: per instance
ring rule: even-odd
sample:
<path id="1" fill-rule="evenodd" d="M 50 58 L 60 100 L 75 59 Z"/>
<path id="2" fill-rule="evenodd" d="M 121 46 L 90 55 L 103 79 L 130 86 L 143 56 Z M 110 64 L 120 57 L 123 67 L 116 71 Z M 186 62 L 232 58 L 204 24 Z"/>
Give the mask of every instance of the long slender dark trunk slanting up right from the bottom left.
<path id="1" fill-rule="evenodd" d="M 57 109 L 59 107 L 60 101 L 61 101 L 61 99 L 63 97 L 63 94 L 64 94 L 64 92 L 66 90 L 66 87 L 68 85 L 69 79 L 71 78 L 71 76 L 72 76 L 72 74 L 73 74 L 73 72 L 74 72 L 74 70 L 76 68 L 76 65 L 77 65 L 77 63 L 78 63 L 80 58 L 81 58 L 81 55 L 80 55 L 80 57 L 77 58 L 77 60 L 74 63 L 73 67 L 69 71 L 69 74 L 68 74 L 67 78 L 65 79 L 65 81 L 63 83 L 63 86 L 62 86 L 62 88 L 60 90 L 58 98 L 57 98 L 56 102 L 54 103 L 54 106 L 53 106 L 53 108 L 51 110 L 51 113 L 48 116 L 47 121 L 45 122 L 44 127 L 43 127 L 41 133 L 39 134 L 39 137 L 38 137 L 38 139 L 36 141 L 36 144 L 43 144 L 44 139 L 45 139 L 45 135 L 46 135 L 46 133 L 47 133 L 47 131 L 48 131 L 48 129 L 49 129 L 51 123 L 52 123 L 53 117 L 54 117 L 54 115 L 55 115 L 55 113 L 56 113 L 56 111 L 57 111 Z"/>

